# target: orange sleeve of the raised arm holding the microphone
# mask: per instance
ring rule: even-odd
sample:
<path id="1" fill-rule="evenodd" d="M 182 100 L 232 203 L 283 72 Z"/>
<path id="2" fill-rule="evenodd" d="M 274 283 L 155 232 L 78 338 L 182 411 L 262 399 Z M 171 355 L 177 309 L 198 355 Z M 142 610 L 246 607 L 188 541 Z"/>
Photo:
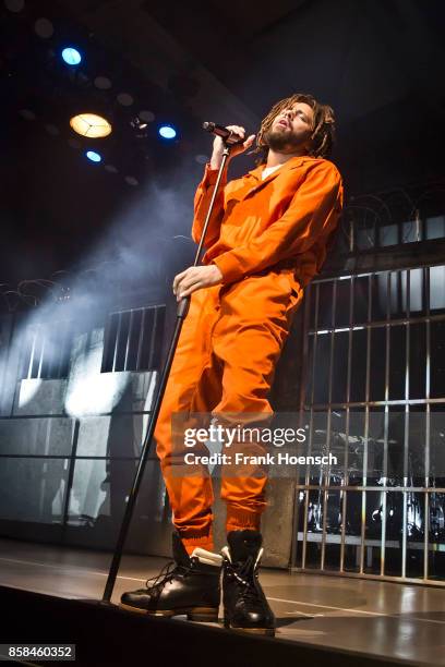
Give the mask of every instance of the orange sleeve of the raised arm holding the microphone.
<path id="1" fill-rule="evenodd" d="M 192 239 L 195 243 L 200 242 L 201 234 L 204 228 L 205 218 L 211 204 L 212 195 L 215 190 L 216 179 L 218 177 L 217 169 L 211 169 L 207 163 L 205 167 L 204 178 L 197 186 L 194 197 L 194 218 L 192 225 Z M 215 199 L 215 207 L 212 214 L 211 221 L 205 235 L 204 247 L 211 247 L 219 239 L 219 229 L 224 217 L 224 187 L 227 183 L 227 168 L 222 172 L 219 192 Z"/>

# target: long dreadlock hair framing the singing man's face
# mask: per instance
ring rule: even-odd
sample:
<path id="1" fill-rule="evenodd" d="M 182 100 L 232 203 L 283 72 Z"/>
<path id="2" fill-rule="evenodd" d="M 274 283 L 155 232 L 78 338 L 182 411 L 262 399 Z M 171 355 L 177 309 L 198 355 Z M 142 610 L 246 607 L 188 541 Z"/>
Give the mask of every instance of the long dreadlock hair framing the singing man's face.
<path id="1" fill-rule="evenodd" d="M 255 153 L 263 154 L 262 157 L 258 158 L 258 163 L 267 160 L 267 133 L 269 132 L 274 120 L 284 109 L 287 109 L 299 101 L 309 105 L 314 114 L 309 155 L 323 158 L 329 156 L 335 140 L 334 110 L 327 105 L 321 105 L 312 95 L 306 93 L 296 93 L 286 99 L 277 101 L 277 104 L 272 107 L 270 111 L 263 119 L 260 132 L 256 135 Z"/>

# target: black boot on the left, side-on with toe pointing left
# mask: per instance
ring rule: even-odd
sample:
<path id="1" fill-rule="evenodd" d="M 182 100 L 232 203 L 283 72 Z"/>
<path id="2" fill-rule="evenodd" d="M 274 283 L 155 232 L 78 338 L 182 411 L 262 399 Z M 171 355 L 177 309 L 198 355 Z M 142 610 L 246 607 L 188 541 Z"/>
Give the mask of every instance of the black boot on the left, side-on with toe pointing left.
<path id="1" fill-rule="evenodd" d="M 201 547 L 191 556 L 177 533 L 172 535 L 173 558 L 146 587 L 124 593 L 123 609 L 154 616 L 187 614 L 189 620 L 217 621 L 220 597 L 221 557 Z"/>

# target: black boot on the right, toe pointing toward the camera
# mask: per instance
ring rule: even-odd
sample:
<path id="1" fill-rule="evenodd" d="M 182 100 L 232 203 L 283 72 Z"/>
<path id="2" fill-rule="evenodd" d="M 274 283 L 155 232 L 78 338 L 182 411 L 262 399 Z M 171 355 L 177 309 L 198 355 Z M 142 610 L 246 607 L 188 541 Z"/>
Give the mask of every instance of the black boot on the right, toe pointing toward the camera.
<path id="1" fill-rule="evenodd" d="M 231 630 L 275 635 L 275 616 L 258 581 L 263 538 L 257 531 L 231 531 L 222 548 L 224 624 Z"/>

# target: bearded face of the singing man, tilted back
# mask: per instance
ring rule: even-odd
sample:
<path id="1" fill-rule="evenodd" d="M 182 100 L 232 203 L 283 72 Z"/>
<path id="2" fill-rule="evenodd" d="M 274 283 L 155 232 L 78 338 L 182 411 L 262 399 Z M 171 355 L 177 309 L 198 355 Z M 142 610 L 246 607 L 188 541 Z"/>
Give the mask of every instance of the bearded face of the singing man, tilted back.
<path id="1" fill-rule="evenodd" d="M 277 153 L 308 149 L 314 113 L 305 102 L 294 102 L 278 113 L 266 134 L 269 148 Z"/>

